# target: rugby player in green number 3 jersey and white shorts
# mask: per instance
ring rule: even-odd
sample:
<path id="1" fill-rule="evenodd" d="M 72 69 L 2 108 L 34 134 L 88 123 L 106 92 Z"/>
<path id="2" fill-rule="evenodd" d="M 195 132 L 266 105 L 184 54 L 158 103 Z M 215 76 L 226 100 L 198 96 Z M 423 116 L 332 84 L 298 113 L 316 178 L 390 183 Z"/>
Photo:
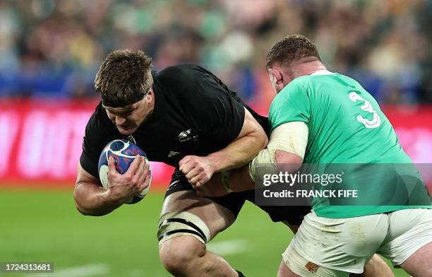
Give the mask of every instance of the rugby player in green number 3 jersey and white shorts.
<path id="1" fill-rule="evenodd" d="M 268 147 L 249 165 L 256 183 L 259 165 L 264 164 L 272 165 L 275 172 L 282 165 L 284 170 L 296 172 L 304 163 L 358 163 L 376 168 L 412 165 L 376 100 L 352 78 L 328 71 L 316 46 L 303 35 L 277 42 L 268 53 L 267 69 L 277 95 L 270 107 Z M 407 168 L 405 175 L 421 180 L 412 170 L 415 167 Z M 251 185 L 245 182 L 245 172 L 245 168 L 231 172 L 230 189 L 241 191 Z M 359 172 L 360 167 L 352 168 L 349 173 L 360 178 L 347 182 L 345 188 L 367 188 L 371 199 L 373 188 L 383 191 L 380 182 L 364 184 Z M 397 174 L 388 173 L 396 179 Z M 228 185 L 226 177 L 224 180 L 224 186 L 210 182 L 197 189 L 203 194 L 222 194 L 220 187 Z M 278 276 L 362 273 L 375 253 L 412 276 L 432 276 L 432 206 L 426 197 L 426 202 L 411 206 L 373 201 L 366 205 L 354 200 L 345 206 L 326 205 L 323 199 L 313 199 L 313 210 L 282 254 Z M 384 273 L 380 274 L 378 271 L 376 276 Z"/>

